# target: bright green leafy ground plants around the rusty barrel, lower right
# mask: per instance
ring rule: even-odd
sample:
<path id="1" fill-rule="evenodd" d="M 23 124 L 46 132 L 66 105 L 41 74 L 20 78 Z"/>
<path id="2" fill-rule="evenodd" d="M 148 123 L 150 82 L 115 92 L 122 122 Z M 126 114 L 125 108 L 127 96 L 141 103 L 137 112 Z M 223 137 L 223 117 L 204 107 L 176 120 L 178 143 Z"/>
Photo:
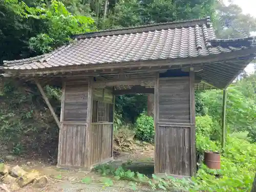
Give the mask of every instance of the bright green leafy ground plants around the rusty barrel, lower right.
<path id="1" fill-rule="evenodd" d="M 215 148 L 220 144 L 197 135 L 197 150 Z M 212 170 L 205 165 L 201 166 L 197 177 L 187 188 L 189 191 L 250 191 L 256 170 L 256 144 L 244 139 L 228 137 L 221 157 L 221 169 Z M 216 178 L 216 174 L 220 177 Z"/>

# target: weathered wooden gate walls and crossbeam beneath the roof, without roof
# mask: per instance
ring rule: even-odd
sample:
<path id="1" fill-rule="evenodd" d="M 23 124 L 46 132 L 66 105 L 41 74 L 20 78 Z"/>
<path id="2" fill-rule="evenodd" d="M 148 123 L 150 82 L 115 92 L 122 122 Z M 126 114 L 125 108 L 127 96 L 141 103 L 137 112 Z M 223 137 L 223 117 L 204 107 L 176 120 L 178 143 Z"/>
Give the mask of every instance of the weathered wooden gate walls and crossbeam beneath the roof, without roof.
<path id="1" fill-rule="evenodd" d="M 155 93 L 155 173 L 195 173 L 195 76 L 64 82 L 59 167 L 87 167 L 113 158 L 114 94 Z M 134 87 L 141 89 L 133 91 Z M 115 87 L 130 87 L 116 90 Z M 143 91 L 140 91 L 143 90 Z M 159 154 L 164 154 L 161 156 Z"/>

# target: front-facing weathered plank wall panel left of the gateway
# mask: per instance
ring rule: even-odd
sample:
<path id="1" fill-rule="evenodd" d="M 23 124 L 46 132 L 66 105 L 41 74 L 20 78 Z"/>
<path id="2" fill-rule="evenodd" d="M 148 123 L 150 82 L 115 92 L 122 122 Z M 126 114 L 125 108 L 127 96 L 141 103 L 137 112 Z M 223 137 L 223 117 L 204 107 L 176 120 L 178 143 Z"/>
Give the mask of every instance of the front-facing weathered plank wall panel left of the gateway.
<path id="1" fill-rule="evenodd" d="M 58 167 L 86 166 L 88 81 L 63 82 Z"/>

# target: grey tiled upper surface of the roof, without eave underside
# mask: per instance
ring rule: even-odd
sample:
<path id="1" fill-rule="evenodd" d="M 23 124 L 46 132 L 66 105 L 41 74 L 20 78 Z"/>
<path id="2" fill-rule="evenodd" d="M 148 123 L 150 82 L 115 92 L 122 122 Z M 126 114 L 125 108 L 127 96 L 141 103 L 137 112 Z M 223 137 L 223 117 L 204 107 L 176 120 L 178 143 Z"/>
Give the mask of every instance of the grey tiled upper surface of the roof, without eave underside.
<path id="1" fill-rule="evenodd" d="M 28 70 L 198 57 L 250 46 L 250 39 L 214 40 L 216 36 L 209 18 L 92 32 L 75 35 L 75 38 L 77 41 L 73 44 L 50 54 L 4 61 L 4 69 Z"/>

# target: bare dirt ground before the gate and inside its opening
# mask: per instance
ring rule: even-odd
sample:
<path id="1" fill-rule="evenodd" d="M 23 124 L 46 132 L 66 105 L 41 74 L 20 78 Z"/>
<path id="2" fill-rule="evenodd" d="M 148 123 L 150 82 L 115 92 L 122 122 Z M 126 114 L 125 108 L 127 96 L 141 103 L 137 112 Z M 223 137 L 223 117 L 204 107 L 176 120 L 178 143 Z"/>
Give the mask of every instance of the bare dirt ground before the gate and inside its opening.
<path id="1" fill-rule="evenodd" d="M 154 172 L 154 147 L 152 145 L 147 145 L 143 148 L 138 147 L 133 153 L 121 153 L 115 158 L 115 166 L 121 165 L 124 162 L 131 161 L 131 165 L 127 168 L 134 172 L 140 172 L 147 176 L 151 176 Z M 48 178 L 48 183 L 44 188 L 32 188 L 30 186 L 21 188 L 17 191 L 20 192 L 46 192 L 46 191 L 58 191 L 58 192 L 130 192 L 134 191 L 129 186 L 129 181 L 113 181 L 112 186 L 106 187 L 104 184 L 104 177 L 95 174 L 94 172 L 84 172 L 81 170 L 71 170 L 71 169 L 60 169 L 56 165 L 44 164 L 41 162 L 31 161 L 20 161 L 12 162 L 11 166 L 19 165 L 25 170 L 38 170 L 41 175 L 46 175 Z M 82 180 L 87 180 L 90 178 L 90 183 L 85 184 Z M 137 185 L 136 191 L 150 192 L 152 189 L 147 186 Z M 1 191 L 1 190 L 0 190 Z"/>

